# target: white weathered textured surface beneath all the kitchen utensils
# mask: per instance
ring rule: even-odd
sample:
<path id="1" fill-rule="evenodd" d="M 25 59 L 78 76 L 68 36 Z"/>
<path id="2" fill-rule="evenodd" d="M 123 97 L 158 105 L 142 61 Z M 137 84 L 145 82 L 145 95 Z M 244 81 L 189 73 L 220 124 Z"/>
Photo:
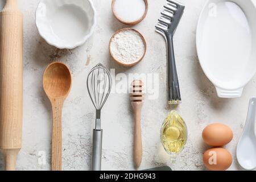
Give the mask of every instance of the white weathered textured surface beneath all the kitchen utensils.
<path id="1" fill-rule="evenodd" d="M 208 146 L 201 139 L 201 131 L 213 122 L 225 123 L 232 128 L 234 139 L 226 146 L 233 154 L 233 164 L 229 169 L 241 169 L 236 159 L 236 146 L 245 125 L 249 98 L 256 93 L 256 77 L 245 87 L 241 98 L 217 97 L 214 86 L 200 67 L 195 46 L 196 24 L 204 0 L 181 0 L 186 9 L 177 28 L 174 44 L 183 103 L 176 109 L 187 123 L 188 142 L 174 164 L 170 162 L 170 156 L 163 150 L 159 139 L 162 122 L 174 109 L 167 105 L 164 39 L 154 31 L 165 0 L 149 0 L 146 19 L 134 26 L 147 41 L 147 53 L 143 61 L 132 68 L 121 67 L 109 57 L 110 37 L 120 28 L 127 27 L 112 15 L 110 0 L 93 0 L 98 13 L 96 30 L 84 46 L 72 50 L 58 50 L 40 38 L 34 16 L 38 2 L 19 0 L 19 7 L 24 13 L 24 125 L 18 170 L 51 169 L 52 114 L 50 102 L 43 91 L 42 76 L 46 66 L 53 60 L 67 64 L 73 76 L 73 87 L 63 108 L 64 170 L 90 169 L 95 111 L 86 89 L 86 77 L 99 62 L 109 69 L 115 69 L 115 74 L 125 73 L 128 76 L 129 73 L 155 73 L 159 76 L 159 97 L 155 100 L 146 97 L 144 101 L 143 160 L 139 169 L 167 164 L 174 170 L 204 170 L 202 154 Z M 102 110 L 102 129 L 102 169 L 134 170 L 133 115 L 129 94 L 110 94 Z M 3 169 L 2 155 L 0 168 Z"/>

